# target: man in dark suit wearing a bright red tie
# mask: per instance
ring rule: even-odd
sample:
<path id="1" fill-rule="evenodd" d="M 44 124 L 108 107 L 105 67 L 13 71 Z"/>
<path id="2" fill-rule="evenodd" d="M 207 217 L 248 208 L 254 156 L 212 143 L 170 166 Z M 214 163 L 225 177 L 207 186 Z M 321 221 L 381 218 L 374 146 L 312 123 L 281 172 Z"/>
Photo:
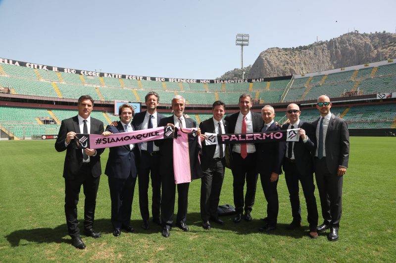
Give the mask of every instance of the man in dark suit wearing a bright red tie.
<path id="1" fill-rule="evenodd" d="M 259 132 L 263 125 L 261 114 L 250 111 L 253 102 L 250 94 L 242 94 L 239 97 L 238 113 L 227 115 L 224 119 L 229 123 L 230 133 Z M 254 144 L 230 145 L 232 149 L 232 175 L 234 177 L 234 204 L 238 215 L 234 218 L 235 223 L 241 222 L 245 217 L 247 222 L 251 221 L 250 212 L 254 204 L 257 185 L 256 160 L 257 153 Z M 246 179 L 246 195 L 244 209 L 244 186 Z M 243 211 L 245 210 L 245 216 Z"/>

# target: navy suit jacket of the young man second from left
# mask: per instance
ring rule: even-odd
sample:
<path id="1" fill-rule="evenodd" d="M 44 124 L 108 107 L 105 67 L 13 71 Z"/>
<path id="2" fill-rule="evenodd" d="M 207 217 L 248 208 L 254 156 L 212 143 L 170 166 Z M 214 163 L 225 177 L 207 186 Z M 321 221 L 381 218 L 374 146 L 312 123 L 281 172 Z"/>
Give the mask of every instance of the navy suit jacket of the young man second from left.
<path id="1" fill-rule="evenodd" d="M 119 121 L 117 126 L 107 125 L 106 131 L 111 133 L 125 132 L 122 123 Z M 110 147 L 106 169 L 104 173 L 107 176 L 119 179 L 127 179 L 129 175 L 133 178 L 137 176 L 135 155 L 139 155 L 138 148 L 130 150 L 129 145 Z"/>

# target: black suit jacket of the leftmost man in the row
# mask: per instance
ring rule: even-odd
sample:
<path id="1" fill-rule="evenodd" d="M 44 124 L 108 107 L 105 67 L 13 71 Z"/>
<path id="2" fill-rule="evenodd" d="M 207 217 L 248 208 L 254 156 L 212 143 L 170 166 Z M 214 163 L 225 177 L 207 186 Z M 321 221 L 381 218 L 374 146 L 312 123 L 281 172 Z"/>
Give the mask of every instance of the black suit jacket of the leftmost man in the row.
<path id="1" fill-rule="evenodd" d="M 68 132 L 73 131 L 75 133 L 82 133 L 80 131 L 80 126 L 78 123 L 78 117 L 74 116 L 72 118 L 62 120 L 60 124 L 58 138 L 55 142 L 55 149 L 57 151 L 66 150 L 65 162 L 63 167 L 63 177 L 73 178 L 78 174 L 80 168 L 83 164 L 83 152 L 81 149 L 77 148 L 74 140 L 70 144 L 65 146 L 65 139 Z M 91 134 L 102 134 L 103 133 L 103 122 L 99 119 L 91 117 Z M 100 154 L 104 149 L 97 149 L 95 156 L 90 156 L 90 164 L 92 176 L 99 177 L 101 174 L 100 167 Z"/>

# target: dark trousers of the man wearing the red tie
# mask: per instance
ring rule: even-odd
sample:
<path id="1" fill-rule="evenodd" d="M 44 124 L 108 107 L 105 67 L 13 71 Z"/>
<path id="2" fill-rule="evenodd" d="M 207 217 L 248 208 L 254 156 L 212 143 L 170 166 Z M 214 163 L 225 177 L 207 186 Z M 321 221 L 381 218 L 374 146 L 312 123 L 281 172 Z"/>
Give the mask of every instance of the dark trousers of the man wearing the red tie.
<path id="1" fill-rule="evenodd" d="M 234 205 L 235 211 L 244 211 L 244 187 L 246 180 L 245 212 L 250 212 L 254 205 L 258 173 L 256 170 L 257 153 L 248 153 L 244 159 L 238 152 L 233 152 L 232 175 L 234 177 Z"/>

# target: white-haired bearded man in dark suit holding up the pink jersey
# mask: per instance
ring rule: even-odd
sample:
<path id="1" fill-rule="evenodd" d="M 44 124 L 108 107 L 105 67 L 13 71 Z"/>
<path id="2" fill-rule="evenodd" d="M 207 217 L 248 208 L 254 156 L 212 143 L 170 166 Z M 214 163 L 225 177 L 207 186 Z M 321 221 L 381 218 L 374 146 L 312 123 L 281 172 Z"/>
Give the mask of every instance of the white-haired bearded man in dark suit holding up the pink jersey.
<path id="1" fill-rule="evenodd" d="M 162 118 L 159 126 L 166 126 L 167 124 L 182 128 L 195 128 L 197 123 L 191 118 L 185 118 L 183 115 L 186 100 L 176 95 L 172 99 L 172 109 L 174 114 L 170 117 Z M 198 134 L 200 135 L 200 134 Z M 159 173 L 162 183 L 161 195 L 161 221 L 162 221 L 162 235 L 169 237 L 170 229 L 173 225 L 173 216 L 175 211 L 175 194 L 176 184 L 173 172 L 173 140 L 158 140 L 155 145 L 159 147 Z M 177 185 L 178 193 L 178 211 L 176 217 L 176 225 L 184 231 L 189 231 L 186 225 L 187 218 L 187 204 L 188 192 L 190 183 L 183 183 Z"/>

